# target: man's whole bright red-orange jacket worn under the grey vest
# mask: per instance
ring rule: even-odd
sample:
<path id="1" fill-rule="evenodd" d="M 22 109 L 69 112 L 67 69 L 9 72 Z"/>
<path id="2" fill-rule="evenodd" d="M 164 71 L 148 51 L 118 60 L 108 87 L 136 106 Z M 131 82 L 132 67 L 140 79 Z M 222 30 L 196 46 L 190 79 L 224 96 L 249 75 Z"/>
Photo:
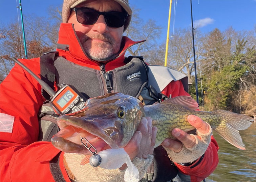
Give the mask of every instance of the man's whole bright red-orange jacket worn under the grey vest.
<path id="1" fill-rule="evenodd" d="M 106 64 L 106 70 L 124 65 L 126 49 L 138 42 L 124 37 L 125 46 L 118 58 Z M 59 31 L 60 44 L 68 44 L 68 51 L 57 49 L 59 55 L 67 60 L 94 69 L 99 65 L 88 59 L 80 47 L 71 24 L 61 24 Z M 20 59 L 40 78 L 39 58 Z M 165 89 L 166 95 L 188 95 L 180 81 L 171 82 Z M 63 152 L 50 142 L 37 142 L 39 133 L 38 112 L 44 102 L 39 83 L 19 65 L 15 65 L 9 75 L 0 84 L 0 113 L 14 116 L 12 132 L 0 132 L 0 181 L 55 181 L 51 163 L 60 154 L 58 172 L 66 181 L 70 181 L 63 165 Z M 12 122 L 12 121 L 9 121 Z M 217 166 L 218 145 L 214 139 L 210 143 L 203 160 L 193 169 L 177 164 L 184 174 L 190 175 L 193 181 L 209 176 Z"/>

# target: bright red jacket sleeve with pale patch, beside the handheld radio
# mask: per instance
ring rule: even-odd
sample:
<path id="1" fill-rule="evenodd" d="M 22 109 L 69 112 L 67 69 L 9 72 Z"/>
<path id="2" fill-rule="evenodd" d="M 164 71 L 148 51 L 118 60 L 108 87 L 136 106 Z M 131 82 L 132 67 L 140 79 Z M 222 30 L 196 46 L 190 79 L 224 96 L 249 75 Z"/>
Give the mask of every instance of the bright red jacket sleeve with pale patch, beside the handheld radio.
<path id="1" fill-rule="evenodd" d="M 39 59 L 21 61 L 39 76 Z M 0 125 L 0 181 L 54 181 L 49 161 L 60 151 L 50 142 L 36 142 L 41 86 L 16 64 L 0 84 L 0 95 L 1 117 L 14 117 L 10 132 Z"/>

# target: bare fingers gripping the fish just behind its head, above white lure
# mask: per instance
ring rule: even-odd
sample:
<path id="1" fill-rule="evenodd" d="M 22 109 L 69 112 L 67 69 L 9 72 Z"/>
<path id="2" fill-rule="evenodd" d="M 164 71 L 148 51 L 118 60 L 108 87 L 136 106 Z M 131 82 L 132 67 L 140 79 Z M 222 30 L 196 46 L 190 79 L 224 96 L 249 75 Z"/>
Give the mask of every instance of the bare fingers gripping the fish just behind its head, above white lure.
<path id="1" fill-rule="evenodd" d="M 131 160 L 134 157 L 146 159 L 153 154 L 157 127 L 152 127 L 152 119 L 143 117 L 130 142 L 124 147 Z"/>

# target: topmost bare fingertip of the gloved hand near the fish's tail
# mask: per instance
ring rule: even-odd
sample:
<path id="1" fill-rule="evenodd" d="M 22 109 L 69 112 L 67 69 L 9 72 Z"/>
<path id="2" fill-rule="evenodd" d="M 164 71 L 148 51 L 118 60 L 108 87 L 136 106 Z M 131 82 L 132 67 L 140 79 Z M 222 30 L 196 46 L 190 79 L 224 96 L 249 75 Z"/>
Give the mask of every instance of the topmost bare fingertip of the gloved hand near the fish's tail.
<path id="1" fill-rule="evenodd" d="M 188 116 L 188 122 L 196 128 L 201 134 L 206 134 L 210 131 L 210 126 L 204 122 L 201 118 L 195 115 Z"/>

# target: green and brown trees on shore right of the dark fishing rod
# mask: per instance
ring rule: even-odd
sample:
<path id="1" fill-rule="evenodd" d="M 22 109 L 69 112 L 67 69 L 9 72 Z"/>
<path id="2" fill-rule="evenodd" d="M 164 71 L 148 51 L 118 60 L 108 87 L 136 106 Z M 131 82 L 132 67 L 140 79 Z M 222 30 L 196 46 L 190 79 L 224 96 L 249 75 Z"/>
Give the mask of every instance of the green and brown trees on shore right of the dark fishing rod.
<path id="1" fill-rule="evenodd" d="M 198 81 L 201 109 L 222 109 L 256 117 L 255 34 L 244 32 L 239 38 L 237 32 L 232 32 L 227 37 L 214 29 L 205 36 L 201 77 L 197 74 L 203 79 Z M 192 80 L 194 83 L 193 76 Z M 190 94 L 195 98 L 194 85 Z"/>

